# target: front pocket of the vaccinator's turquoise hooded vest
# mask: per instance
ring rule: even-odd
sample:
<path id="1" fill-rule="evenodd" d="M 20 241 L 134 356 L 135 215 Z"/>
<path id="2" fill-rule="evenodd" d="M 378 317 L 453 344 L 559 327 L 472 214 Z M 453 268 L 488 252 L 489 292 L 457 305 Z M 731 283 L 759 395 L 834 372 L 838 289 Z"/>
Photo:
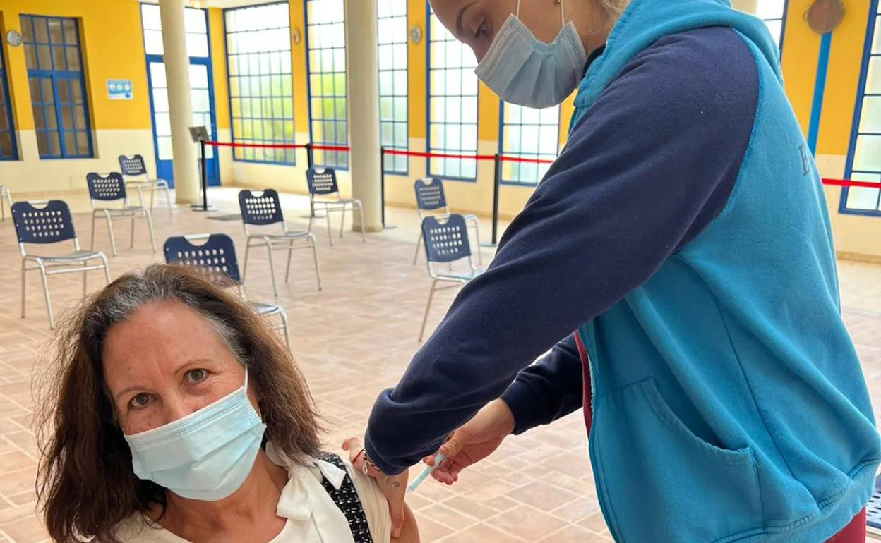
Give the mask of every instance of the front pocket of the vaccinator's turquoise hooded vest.
<path id="1" fill-rule="evenodd" d="M 764 525 L 752 450 L 695 436 L 648 378 L 603 395 L 591 447 L 618 541 L 732 541 Z"/>

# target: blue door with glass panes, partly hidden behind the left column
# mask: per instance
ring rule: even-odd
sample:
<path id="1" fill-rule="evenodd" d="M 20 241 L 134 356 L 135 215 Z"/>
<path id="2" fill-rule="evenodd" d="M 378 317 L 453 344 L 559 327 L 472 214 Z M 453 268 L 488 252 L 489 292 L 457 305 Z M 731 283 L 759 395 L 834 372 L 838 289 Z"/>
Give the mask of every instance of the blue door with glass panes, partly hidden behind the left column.
<path id="1" fill-rule="evenodd" d="M 208 129 L 211 139 L 216 133 L 214 116 L 214 97 L 211 88 L 210 60 L 207 58 L 189 59 L 189 100 L 193 108 L 191 126 Z M 150 109 L 153 117 L 153 146 L 156 150 L 156 171 L 159 179 L 168 180 L 174 187 L 174 158 L 171 147 L 171 115 L 168 113 L 168 80 L 165 62 L 159 55 L 147 56 L 147 78 L 150 83 Z M 196 145 L 196 143 L 193 143 Z M 220 184 L 218 160 L 214 148 L 205 147 L 206 171 L 209 187 Z"/>

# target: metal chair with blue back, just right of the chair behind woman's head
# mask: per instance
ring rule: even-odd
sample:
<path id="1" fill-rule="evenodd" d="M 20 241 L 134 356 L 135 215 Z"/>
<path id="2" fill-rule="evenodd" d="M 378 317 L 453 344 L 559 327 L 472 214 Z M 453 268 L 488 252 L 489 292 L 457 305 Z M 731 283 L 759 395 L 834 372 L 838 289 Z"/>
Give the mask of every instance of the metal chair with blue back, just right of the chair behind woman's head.
<path id="1" fill-rule="evenodd" d="M 285 216 L 281 212 L 281 202 L 278 200 L 278 192 L 267 188 L 262 193 L 254 193 L 249 190 L 239 192 L 239 209 L 241 209 L 241 223 L 245 230 L 245 238 L 248 244 L 245 246 L 245 262 L 241 267 L 241 281 L 245 281 L 248 271 L 248 253 L 251 247 L 265 246 L 270 255 L 270 276 L 272 278 L 272 292 L 278 297 L 278 286 L 275 278 L 275 261 L 272 252 L 287 249 L 287 267 L 285 268 L 285 283 L 291 276 L 291 255 L 294 249 L 312 248 L 312 258 L 315 260 L 315 278 L 318 281 L 318 290 L 322 290 L 322 272 L 318 268 L 318 249 L 315 244 L 315 234 L 311 231 L 293 231 L 287 229 Z M 281 224 L 280 233 L 256 233 L 248 229 L 248 225 L 266 226 L 269 224 Z M 305 242 L 296 245 L 297 242 Z"/>

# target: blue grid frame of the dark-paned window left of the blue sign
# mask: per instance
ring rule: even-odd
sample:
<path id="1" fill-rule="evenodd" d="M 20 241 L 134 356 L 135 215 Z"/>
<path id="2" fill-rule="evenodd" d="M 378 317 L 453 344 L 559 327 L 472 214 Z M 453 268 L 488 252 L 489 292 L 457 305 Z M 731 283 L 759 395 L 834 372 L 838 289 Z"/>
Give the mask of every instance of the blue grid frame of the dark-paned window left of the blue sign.
<path id="1" fill-rule="evenodd" d="M 62 29 L 64 26 L 63 21 L 65 21 L 65 20 L 72 21 L 73 26 L 74 26 L 74 30 L 77 33 L 77 47 L 76 48 L 77 48 L 77 57 L 78 57 L 79 68 L 80 68 L 79 71 L 55 70 L 55 55 L 51 55 L 51 54 L 50 54 L 50 58 L 52 61 L 52 70 L 42 70 L 41 68 L 38 68 L 38 69 L 27 68 L 26 69 L 27 70 L 28 86 L 30 86 L 31 81 L 33 79 L 38 79 L 38 80 L 48 79 L 52 84 L 52 95 L 53 95 L 52 96 L 52 99 L 53 99 L 52 103 L 55 106 L 55 110 L 56 110 L 56 114 L 55 114 L 56 128 L 36 128 L 36 114 L 37 114 L 37 112 L 34 109 L 34 105 L 36 104 L 36 102 L 34 101 L 33 96 L 31 97 L 31 109 L 33 110 L 33 115 L 34 115 L 34 132 L 36 134 L 39 134 L 41 132 L 44 134 L 57 133 L 57 135 L 58 135 L 58 149 L 61 154 L 60 155 L 43 155 L 43 154 L 41 154 L 39 151 L 39 140 L 38 140 L 38 153 L 39 153 L 40 159 L 41 160 L 75 160 L 75 159 L 80 159 L 80 158 L 95 158 L 93 133 L 92 133 L 92 119 L 91 119 L 91 115 L 90 115 L 91 114 L 91 107 L 89 104 L 88 87 L 85 84 L 85 64 L 83 62 L 83 38 L 82 38 L 82 33 L 81 33 L 80 27 L 79 27 L 79 18 L 53 17 L 53 16 L 47 16 L 47 15 L 33 15 L 30 13 L 21 13 L 21 14 L 19 14 L 19 22 L 22 27 L 24 27 L 24 25 L 25 25 L 25 19 L 27 19 L 29 21 L 28 24 L 31 25 L 31 30 L 33 33 L 33 40 L 34 41 L 30 45 L 32 45 L 34 47 L 34 55 L 36 55 L 36 57 L 38 59 L 37 60 L 38 66 L 39 66 L 39 62 L 40 62 L 39 61 L 40 53 L 39 53 L 38 46 L 40 46 L 40 45 L 48 46 L 50 48 L 49 50 L 51 51 L 52 50 L 51 48 L 54 47 L 56 44 L 52 43 L 51 38 L 48 38 L 49 41 L 45 42 L 45 43 L 41 42 L 41 41 L 37 41 L 35 27 L 33 26 L 34 22 L 37 19 L 46 20 L 47 32 L 48 32 L 48 21 L 50 19 L 57 19 L 57 20 L 61 21 Z M 24 30 L 24 28 L 23 28 L 23 30 Z M 23 42 L 22 45 L 26 46 L 28 44 L 26 42 Z M 67 55 L 66 48 L 68 48 L 69 46 L 67 45 L 66 33 L 63 30 L 62 30 L 62 43 L 61 43 L 61 45 L 63 48 L 65 48 L 65 65 L 66 65 L 68 63 L 67 56 L 66 56 Z M 58 102 L 58 82 L 60 80 L 78 81 L 79 82 L 80 92 L 82 93 L 82 97 L 83 97 L 83 110 L 84 110 L 83 121 L 85 124 L 84 128 L 78 128 L 78 127 L 73 128 L 73 129 L 63 128 L 62 112 L 61 112 L 62 108 L 60 106 L 60 103 Z M 40 85 L 40 87 L 41 87 L 41 97 L 42 97 L 42 84 Z M 47 102 L 41 100 L 40 103 L 43 104 L 42 106 L 40 106 L 40 109 L 41 109 L 41 114 L 43 115 L 43 119 L 45 121 L 45 119 L 46 119 L 46 106 L 45 106 L 45 104 Z M 71 107 L 76 107 L 76 104 L 74 102 L 65 102 L 65 103 L 70 104 Z M 71 114 L 71 120 L 74 123 L 76 123 L 76 115 L 75 114 Z M 45 126 L 45 124 L 46 123 L 44 122 L 44 126 Z M 64 136 L 66 136 L 69 133 L 77 135 L 79 132 L 85 133 L 85 140 L 86 140 L 86 144 L 88 147 L 88 154 L 86 154 L 86 155 L 80 155 L 80 154 L 71 155 L 70 153 L 67 152 L 67 146 L 64 143 L 64 139 L 65 139 Z"/>

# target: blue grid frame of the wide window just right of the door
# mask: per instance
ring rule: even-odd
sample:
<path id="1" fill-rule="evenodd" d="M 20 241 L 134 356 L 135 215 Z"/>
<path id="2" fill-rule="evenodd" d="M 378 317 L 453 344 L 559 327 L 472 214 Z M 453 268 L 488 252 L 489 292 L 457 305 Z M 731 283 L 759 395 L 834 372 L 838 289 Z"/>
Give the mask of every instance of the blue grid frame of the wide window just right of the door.
<path id="1" fill-rule="evenodd" d="M 230 133 L 230 138 L 232 139 L 233 143 L 236 143 L 237 141 L 239 141 L 239 142 L 243 141 L 241 135 L 236 137 L 235 130 L 233 128 L 234 121 L 242 121 L 242 120 L 246 120 L 246 119 L 248 121 L 254 121 L 255 117 L 250 117 L 250 116 L 244 117 L 241 115 L 236 117 L 233 115 L 233 83 L 232 83 L 233 80 L 232 80 L 232 78 L 233 77 L 240 77 L 240 79 L 241 79 L 241 75 L 233 76 L 229 70 L 230 56 L 233 54 L 230 53 L 230 50 L 229 50 L 228 40 L 229 40 L 230 33 L 229 33 L 229 29 L 227 28 L 227 24 L 226 24 L 226 13 L 228 11 L 243 11 L 243 10 L 260 8 L 260 7 L 264 7 L 264 6 L 268 6 L 268 5 L 278 5 L 278 4 L 284 4 L 285 9 L 289 14 L 288 24 L 287 24 L 287 33 L 290 36 L 291 28 L 292 28 L 291 19 L 290 19 L 291 5 L 288 0 L 277 0 L 277 1 L 273 1 L 273 2 L 263 2 L 262 4 L 241 5 L 241 6 L 236 6 L 236 7 L 232 7 L 232 8 L 224 8 L 224 10 L 223 10 L 223 36 L 224 36 L 224 53 L 225 53 L 224 62 L 226 62 L 225 66 L 226 66 L 226 90 L 227 90 L 226 95 L 227 95 L 228 106 L 229 106 L 229 133 Z M 278 29 L 281 27 L 274 27 L 274 28 Z M 270 29 L 264 28 L 263 31 L 265 31 L 265 30 L 270 30 Z M 290 45 L 287 50 L 287 54 L 291 56 L 291 72 L 289 74 L 281 73 L 281 74 L 274 74 L 274 75 L 277 75 L 277 76 L 287 75 L 291 78 L 291 96 L 290 97 L 287 97 L 287 96 L 279 97 L 281 99 L 290 99 L 291 100 L 291 118 L 290 119 L 285 119 L 284 117 L 278 117 L 278 118 L 277 117 L 258 117 L 258 118 L 261 121 L 270 121 L 270 122 L 281 121 L 283 123 L 286 123 L 286 122 L 290 121 L 291 127 L 292 127 L 292 139 L 290 139 L 290 140 L 288 140 L 287 138 L 278 139 L 275 137 L 273 137 L 272 139 L 268 139 L 266 137 L 262 137 L 261 139 L 257 140 L 256 138 L 249 138 L 248 141 L 244 142 L 244 143 L 270 143 L 270 144 L 273 144 L 273 143 L 282 143 L 282 144 L 297 143 L 296 142 L 296 139 L 297 139 L 297 124 L 296 124 L 297 111 L 296 111 L 296 104 L 293 101 L 293 93 L 295 92 L 295 89 L 294 89 L 294 80 L 293 80 L 293 56 L 292 56 L 293 55 L 293 44 L 292 44 L 292 40 L 289 39 L 289 43 L 290 43 Z M 210 49 L 211 49 L 211 43 L 209 42 L 209 50 Z M 284 53 L 284 51 L 270 51 L 270 52 Z M 264 52 L 264 53 L 266 53 L 266 52 Z M 241 54 L 237 53 L 234 55 L 241 55 Z M 248 74 L 248 76 L 250 76 L 250 75 L 251 74 Z M 270 76 L 271 75 L 273 75 L 273 74 L 270 74 Z M 263 77 L 263 76 L 261 74 L 257 74 L 255 77 Z M 236 96 L 234 98 L 241 99 L 241 96 Z M 248 96 L 248 99 L 254 99 L 254 98 L 255 97 L 253 95 Z M 257 96 L 257 99 L 262 100 L 264 98 L 266 98 L 266 97 L 262 94 Z M 272 97 L 270 95 L 269 98 L 272 99 L 274 97 Z M 258 149 L 259 148 L 255 148 L 255 150 L 258 150 Z M 276 151 L 278 151 L 278 150 L 276 150 Z M 287 160 L 287 159 L 285 159 L 285 160 L 263 160 L 263 159 L 257 159 L 257 158 L 238 158 L 236 156 L 234 148 L 232 150 L 231 155 L 233 158 L 233 162 L 243 162 L 243 163 L 248 163 L 248 164 L 286 165 L 286 166 L 297 165 L 297 150 L 296 149 L 290 149 L 290 150 L 281 149 L 281 151 L 285 151 L 285 157 L 290 155 L 292 157 L 292 159 L 291 160 Z M 262 152 L 265 152 L 265 150 L 263 150 Z"/>

